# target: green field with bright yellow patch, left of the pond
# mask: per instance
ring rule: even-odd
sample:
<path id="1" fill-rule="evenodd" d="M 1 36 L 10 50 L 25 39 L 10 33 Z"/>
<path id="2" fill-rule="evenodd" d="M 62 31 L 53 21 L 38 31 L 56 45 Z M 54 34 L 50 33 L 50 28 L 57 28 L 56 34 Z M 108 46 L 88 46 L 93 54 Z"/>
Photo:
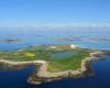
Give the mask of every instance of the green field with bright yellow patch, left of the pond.
<path id="1" fill-rule="evenodd" d="M 29 62 L 50 58 L 50 53 L 37 48 L 20 50 L 15 52 L 0 52 L 0 59 L 14 62 Z"/>

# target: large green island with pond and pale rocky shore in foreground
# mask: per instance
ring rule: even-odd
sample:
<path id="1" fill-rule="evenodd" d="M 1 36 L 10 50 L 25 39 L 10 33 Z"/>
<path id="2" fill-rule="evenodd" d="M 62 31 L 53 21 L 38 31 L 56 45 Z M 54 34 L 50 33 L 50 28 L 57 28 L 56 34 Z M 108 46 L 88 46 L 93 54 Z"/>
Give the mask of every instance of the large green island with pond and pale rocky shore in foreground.
<path id="1" fill-rule="evenodd" d="M 84 77 L 91 73 L 90 63 L 101 58 L 103 54 L 103 51 L 81 48 L 75 44 L 36 45 L 18 51 L 1 51 L 0 69 L 35 66 L 28 82 L 40 85 L 67 77 Z"/>

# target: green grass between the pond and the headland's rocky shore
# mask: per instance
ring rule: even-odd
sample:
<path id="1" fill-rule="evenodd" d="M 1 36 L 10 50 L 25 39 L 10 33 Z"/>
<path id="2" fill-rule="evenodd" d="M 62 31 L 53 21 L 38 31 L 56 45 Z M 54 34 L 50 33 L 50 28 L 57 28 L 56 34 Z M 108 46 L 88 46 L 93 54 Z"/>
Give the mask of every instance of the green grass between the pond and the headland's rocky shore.
<path id="1" fill-rule="evenodd" d="M 52 58 L 52 61 L 48 62 L 48 72 L 63 72 L 63 70 L 75 70 L 80 68 L 81 59 L 89 56 L 88 51 L 72 51 L 73 55 L 66 57 L 66 58 Z M 77 53 L 77 54 L 75 54 Z"/>

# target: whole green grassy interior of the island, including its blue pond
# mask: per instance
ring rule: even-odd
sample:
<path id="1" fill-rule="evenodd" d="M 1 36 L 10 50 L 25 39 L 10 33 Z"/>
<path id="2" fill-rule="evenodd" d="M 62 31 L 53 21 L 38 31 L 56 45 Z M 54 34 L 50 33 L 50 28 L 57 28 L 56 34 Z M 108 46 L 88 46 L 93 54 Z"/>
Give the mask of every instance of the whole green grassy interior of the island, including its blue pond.
<path id="1" fill-rule="evenodd" d="M 14 62 L 46 61 L 48 63 L 48 72 L 63 72 L 80 68 L 81 59 L 88 57 L 92 52 L 81 48 L 72 50 L 65 45 L 56 45 L 56 47 L 32 47 L 14 52 L 0 52 L 0 58 Z"/>

